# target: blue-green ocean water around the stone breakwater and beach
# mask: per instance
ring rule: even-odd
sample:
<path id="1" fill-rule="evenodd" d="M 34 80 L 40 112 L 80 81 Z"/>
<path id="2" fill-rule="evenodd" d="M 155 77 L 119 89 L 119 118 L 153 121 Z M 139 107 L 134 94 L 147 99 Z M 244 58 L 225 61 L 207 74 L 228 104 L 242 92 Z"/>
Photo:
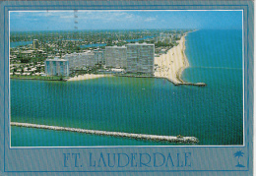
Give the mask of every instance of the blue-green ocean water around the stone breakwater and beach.
<path id="1" fill-rule="evenodd" d="M 11 121 L 138 134 L 193 136 L 198 146 L 243 144 L 241 30 L 186 36 L 182 79 L 100 78 L 80 82 L 11 80 Z M 174 146 L 115 137 L 11 128 L 12 147 Z"/>

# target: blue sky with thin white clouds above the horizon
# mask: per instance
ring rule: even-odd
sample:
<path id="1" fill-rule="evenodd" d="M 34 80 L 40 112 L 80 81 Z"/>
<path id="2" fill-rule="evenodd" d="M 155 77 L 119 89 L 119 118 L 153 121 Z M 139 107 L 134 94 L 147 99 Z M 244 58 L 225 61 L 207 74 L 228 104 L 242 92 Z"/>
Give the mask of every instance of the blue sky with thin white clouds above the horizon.
<path id="1" fill-rule="evenodd" d="M 68 30 L 75 27 L 77 29 L 242 29 L 242 11 L 10 12 L 11 31 Z"/>

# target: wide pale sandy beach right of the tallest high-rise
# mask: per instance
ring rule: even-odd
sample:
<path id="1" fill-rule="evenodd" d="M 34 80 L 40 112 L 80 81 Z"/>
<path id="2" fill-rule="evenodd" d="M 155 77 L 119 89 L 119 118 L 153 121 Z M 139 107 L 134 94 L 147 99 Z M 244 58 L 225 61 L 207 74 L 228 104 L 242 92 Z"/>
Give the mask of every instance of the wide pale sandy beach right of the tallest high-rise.
<path id="1" fill-rule="evenodd" d="M 183 70 L 189 67 L 184 53 L 185 36 L 186 34 L 180 38 L 179 44 L 169 49 L 166 54 L 155 57 L 155 77 L 168 79 L 175 85 L 186 83 L 181 80 Z"/>

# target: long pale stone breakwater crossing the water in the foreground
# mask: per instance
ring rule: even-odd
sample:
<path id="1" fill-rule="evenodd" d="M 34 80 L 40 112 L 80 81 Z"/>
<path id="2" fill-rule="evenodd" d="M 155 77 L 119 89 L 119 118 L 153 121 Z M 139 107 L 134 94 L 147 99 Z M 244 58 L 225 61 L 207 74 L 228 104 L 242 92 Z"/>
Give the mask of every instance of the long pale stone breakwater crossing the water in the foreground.
<path id="1" fill-rule="evenodd" d="M 195 137 L 181 137 L 181 136 L 173 137 L 173 136 L 132 134 L 132 133 L 123 133 L 123 132 L 107 132 L 107 131 L 86 130 L 86 129 L 48 126 L 48 125 L 37 125 L 37 124 L 19 123 L 19 122 L 11 122 L 11 125 L 12 126 L 18 126 L 18 127 L 28 127 L 28 128 L 47 129 L 47 130 L 78 132 L 78 133 L 92 134 L 92 135 L 98 135 L 98 136 L 112 136 L 112 137 L 120 137 L 120 138 L 130 138 L 130 139 L 136 139 L 136 140 L 149 140 L 149 141 L 157 141 L 157 142 L 185 143 L 185 144 L 199 143 L 198 139 L 195 138 Z"/>

